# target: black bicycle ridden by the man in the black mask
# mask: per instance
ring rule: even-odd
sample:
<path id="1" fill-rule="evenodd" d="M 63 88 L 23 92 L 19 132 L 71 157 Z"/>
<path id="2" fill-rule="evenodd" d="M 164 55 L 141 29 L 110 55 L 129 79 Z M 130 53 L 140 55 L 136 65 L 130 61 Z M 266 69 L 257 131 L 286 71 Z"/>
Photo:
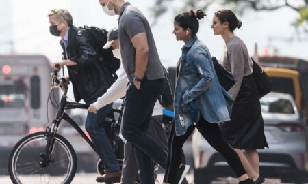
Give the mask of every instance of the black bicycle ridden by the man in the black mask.
<path id="1" fill-rule="evenodd" d="M 68 85 L 64 78 L 58 78 L 56 73 L 51 74 L 52 87 L 49 93 L 49 99 L 52 102 L 52 92 L 56 88 L 62 89 L 64 92 L 58 106 L 56 118 L 53 119 L 51 125 L 47 125 L 44 132 L 36 132 L 29 134 L 19 140 L 9 157 L 8 171 L 10 179 L 14 184 L 35 184 L 35 183 L 70 183 L 75 177 L 77 169 L 77 156 L 73 146 L 60 134 L 57 134 L 61 120 L 68 122 L 84 140 L 94 149 L 92 141 L 81 130 L 79 125 L 70 118 L 64 110 L 71 108 L 88 109 L 87 104 L 80 104 L 77 102 L 67 101 Z M 56 106 L 56 104 L 53 104 Z M 114 145 L 114 151 L 123 147 L 119 138 L 120 132 L 120 118 L 122 110 L 120 108 L 113 108 L 112 112 L 119 114 L 118 121 L 111 119 L 112 129 L 110 140 Z M 123 162 L 123 153 L 120 153 L 118 158 L 119 165 Z M 97 172 L 104 174 L 104 166 L 101 160 L 97 162 Z"/>

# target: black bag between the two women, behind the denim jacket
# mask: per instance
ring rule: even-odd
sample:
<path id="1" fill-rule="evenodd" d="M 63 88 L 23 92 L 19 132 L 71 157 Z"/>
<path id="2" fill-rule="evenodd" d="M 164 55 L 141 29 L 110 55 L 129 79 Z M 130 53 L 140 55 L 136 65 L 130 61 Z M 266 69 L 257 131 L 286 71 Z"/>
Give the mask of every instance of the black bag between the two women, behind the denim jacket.
<path id="1" fill-rule="evenodd" d="M 216 75 L 218 77 L 218 81 L 220 85 L 226 90 L 229 91 L 231 87 L 235 84 L 235 79 L 233 78 L 231 72 L 228 72 L 224 69 L 224 67 L 218 63 L 216 57 L 211 57 L 211 61 L 213 61 L 214 69 L 216 71 Z"/>

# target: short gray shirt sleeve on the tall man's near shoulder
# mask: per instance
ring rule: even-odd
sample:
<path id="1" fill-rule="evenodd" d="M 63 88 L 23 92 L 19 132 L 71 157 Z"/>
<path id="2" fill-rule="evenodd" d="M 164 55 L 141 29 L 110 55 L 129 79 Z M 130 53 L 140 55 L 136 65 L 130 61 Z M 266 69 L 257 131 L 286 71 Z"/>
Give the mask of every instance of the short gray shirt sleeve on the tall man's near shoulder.
<path id="1" fill-rule="evenodd" d="M 144 28 L 144 20 L 138 12 L 129 12 L 129 14 L 125 16 L 125 21 L 123 22 L 125 31 L 130 38 L 137 35 L 138 33 L 146 32 Z"/>

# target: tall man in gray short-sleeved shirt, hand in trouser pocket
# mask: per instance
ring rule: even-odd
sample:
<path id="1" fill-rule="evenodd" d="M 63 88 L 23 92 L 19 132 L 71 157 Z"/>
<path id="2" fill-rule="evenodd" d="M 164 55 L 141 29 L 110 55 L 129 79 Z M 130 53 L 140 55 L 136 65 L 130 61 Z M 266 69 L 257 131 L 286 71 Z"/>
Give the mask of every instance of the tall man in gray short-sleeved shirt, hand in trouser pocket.
<path id="1" fill-rule="evenodd" d="M 123 111 L 122 134 L 133 144 L 140 182 L 154 184 L 153 160 L 166 166 L 166 152 L 146 132 L 157 98 L 165 85 L 149 22 L 136 7 L 123 0 L 99 0 L 103 11 L 118 20 L 122 63 L 129 79 Z"/>

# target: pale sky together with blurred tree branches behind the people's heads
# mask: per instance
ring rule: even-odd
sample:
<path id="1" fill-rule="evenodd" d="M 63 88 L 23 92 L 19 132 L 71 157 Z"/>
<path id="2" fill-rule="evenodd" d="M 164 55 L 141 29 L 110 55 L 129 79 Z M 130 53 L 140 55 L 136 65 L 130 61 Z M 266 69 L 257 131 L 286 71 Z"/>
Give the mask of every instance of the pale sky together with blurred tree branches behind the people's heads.
<path id="1" fill-rule="evenodd" d="M 223 42 L 214 36 L 211 20 L 216 10 L 229 8 L 237 12 L 242 28 L 235 33 L 242 37 L 251 55 L 258 44 L 260 55 L 283 55 L 308 58 L 307 1 L 304 0 L 167 0 L 130 1 L 142 10 L 152 22 L 152 31 L 164 65 L 175 65 L 181 53 L 182 42 L 172 35 L 173 18 L 190 9 L 205 10 L 207 18 L 200 20 L 198 37 L 209 47 L 211 54 L 220 57 Z M 290 3 L 290 6 L 285 5 Z M 227 4 L 226 4 L 227 3 Z M 116 16 L 103 13 L 97 0 L 1 0 L 2 54 L 42 54 L 52 61 L 61 59 L 58 38 L 49 33 L 47 14 L 55 7 L 66 8 L 73 16 L 74 25 L 96 25 L 112 29 L 117 26 Z M 260 10 L 255 10 L 260 9 Z M 268 8 L 268 10 L 266 10 Z M 298 9 L 298 10 L 294 10 Z M 303 16 L 303 17 L 302 17 Z M 300 25 L 301 18 L 306 18 Z"/>

